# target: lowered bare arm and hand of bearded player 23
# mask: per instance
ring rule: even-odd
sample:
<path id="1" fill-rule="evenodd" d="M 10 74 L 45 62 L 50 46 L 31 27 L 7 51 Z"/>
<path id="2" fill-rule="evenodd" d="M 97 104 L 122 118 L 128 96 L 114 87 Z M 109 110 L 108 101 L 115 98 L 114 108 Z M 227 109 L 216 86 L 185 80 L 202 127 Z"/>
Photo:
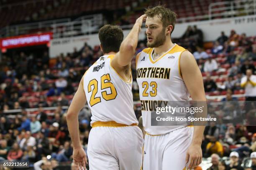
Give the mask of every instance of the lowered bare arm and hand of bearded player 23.
<path id="1" fill-rule="evenodd" d="M 190 52 L 184 51 L 182 53 L 180 69 L 192 100 L 206 101 L 202 74 L 197 66 L 195 57 Z M 188 168 L 193 169 L 202 162 L 201 143 L 204 129 L 205 126 L 194 126 L 192 143 L 187 150 L 186 161 L 189 162 Z"/>

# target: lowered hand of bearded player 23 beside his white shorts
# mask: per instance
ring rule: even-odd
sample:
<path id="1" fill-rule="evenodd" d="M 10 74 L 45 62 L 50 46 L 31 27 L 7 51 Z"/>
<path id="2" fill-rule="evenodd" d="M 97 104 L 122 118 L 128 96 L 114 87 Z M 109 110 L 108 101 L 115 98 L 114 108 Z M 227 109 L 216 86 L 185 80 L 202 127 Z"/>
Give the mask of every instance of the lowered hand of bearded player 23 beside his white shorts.
<path id="1" fill-rule="evenodd" d="M 201 145 L 190 145 L 186 156 L 187 168 L 194 169 L 202 163 L 202 149 Z"/>

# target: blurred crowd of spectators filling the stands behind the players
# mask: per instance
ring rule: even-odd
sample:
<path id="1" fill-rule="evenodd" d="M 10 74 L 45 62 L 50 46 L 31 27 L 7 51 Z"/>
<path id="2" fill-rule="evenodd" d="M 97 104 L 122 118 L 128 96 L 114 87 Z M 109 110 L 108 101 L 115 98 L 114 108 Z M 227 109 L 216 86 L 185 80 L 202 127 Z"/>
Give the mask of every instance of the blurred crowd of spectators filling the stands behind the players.
<path id="1" fill-rule="evenodd" d="M 2 5 L 7 3 L 5 1 L 1 1 Z M 207 5 L 210 2 L 207 1 Z M 58 5 L 61 6 L 62 2 Z M 63 9 L 55 13 L 62 15 Z M 51 13 L 51 9 L 48 12 L 49 16 L 54 13 Z M 115 23 L 134 23 L 141 10 L 117 19 L 123 13 L 122 10 L 113 13 L 117 20 Z M 7 14 L 10 15 L 9 12 Z M 29 22 L 38 20 L 45 17 L 46 12 L 32 16 L 26 19 Z M 112 19 L 106 18 L 108 23 Z M 9 24 L 7 20 L 1 23 Z M 235 28 L 230 32 L 220 30 L 219 37 L 210 42 L 211 45 L 205 45 L 204 32 L 197 25 L 191 25 L 181 37 L 172 41 L 195 56 L 202 72 L 208 102 L 223 102 L 221 107 L 208 105 L 209 116 L 223 122 L 211 122 L 205 128 L 202 141 L 204 159 L 196 170 L 202 169 L 203 165 L 208 166 L 209 170 L 256 170 L 256 35 L 247 36 L 246 32 L 238 34 Z M 138 42 L 136 54 L 144 48 L 146 39 Z M 87 43 L 82 48 L 74 48 L 67 55 L 59 54 L 54 60 L 50 59 L 47 50 L 21 49 L 2 54 L 0 162 L 26 160 L 35 170 L 74 168 L 66 121 L 67 108 L 82 75 L 100 56 L 100 46 L 91 47 Z M 135 58 L 131 69 L 134 111 L 139 119 L 141 105 L 138 102 Z M 79 113 L 80 140 L 85 151 L 91 129 L 90 117 L 91 112 L 86 105 Z M 228 121 L 236 119 L 246 121 Z"/>

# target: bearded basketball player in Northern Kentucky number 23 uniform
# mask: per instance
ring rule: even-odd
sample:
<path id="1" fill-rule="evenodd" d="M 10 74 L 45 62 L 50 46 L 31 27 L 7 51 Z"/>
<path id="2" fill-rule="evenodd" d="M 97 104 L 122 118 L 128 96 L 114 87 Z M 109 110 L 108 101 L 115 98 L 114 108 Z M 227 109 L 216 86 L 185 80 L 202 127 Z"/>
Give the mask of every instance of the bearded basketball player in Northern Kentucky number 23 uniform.
<path id="1" fill-rule="evenodd" d="M 150 107 L 157 101 L 206 101 L 195 57 L 172 43 L 176 14 L 156 6 L 145 12 L 147 46 L 136 56 L 144 141 L 143 170 L 186 170 L 202 161 L 204 126 L 151 126 Z M 150 106 L 150 102 L 151 106 Z"/>

